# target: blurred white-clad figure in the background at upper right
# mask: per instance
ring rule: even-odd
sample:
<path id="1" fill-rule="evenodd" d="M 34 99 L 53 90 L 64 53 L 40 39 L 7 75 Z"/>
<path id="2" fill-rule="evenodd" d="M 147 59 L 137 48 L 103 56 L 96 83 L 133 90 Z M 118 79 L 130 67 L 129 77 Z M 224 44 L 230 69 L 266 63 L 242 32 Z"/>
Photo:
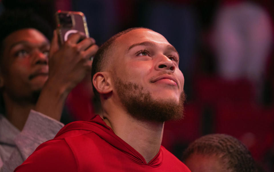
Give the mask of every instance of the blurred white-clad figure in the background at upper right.
<path id="1" fill-rule="evenodd" d="M 219 76 L 229 81 L 248 79 L 260 100 L 273 49 L 273 22 L 259 2 L 224 3 L 216 13 L 210 44 Z"/>

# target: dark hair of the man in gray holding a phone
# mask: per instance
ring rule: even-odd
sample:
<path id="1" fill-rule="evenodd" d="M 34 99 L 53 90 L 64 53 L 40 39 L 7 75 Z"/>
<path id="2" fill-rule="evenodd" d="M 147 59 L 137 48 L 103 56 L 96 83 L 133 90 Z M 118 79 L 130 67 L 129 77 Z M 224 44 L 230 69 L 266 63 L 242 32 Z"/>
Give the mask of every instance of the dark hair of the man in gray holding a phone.
<path id="1" fill-rule="evenodd" d="M 48 40 L 53 36 L 50 25 L 31 9 L 6 10 L 0 16 L 0 23 L 0 58 L 4 48 L 3 41 L 15 31 L 33 28 L 43 33 Z"/>

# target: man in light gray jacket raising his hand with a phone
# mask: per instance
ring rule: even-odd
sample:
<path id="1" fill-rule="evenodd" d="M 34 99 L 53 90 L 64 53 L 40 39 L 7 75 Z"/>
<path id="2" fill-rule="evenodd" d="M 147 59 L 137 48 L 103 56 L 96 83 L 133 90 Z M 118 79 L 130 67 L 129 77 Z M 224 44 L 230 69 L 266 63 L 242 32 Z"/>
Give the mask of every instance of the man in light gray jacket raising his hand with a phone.
<path id="1" fill-rule="evenodd" d="M 52 29 L 29 10 L 5 11 L 0 23 L 0 168 L 13 171 L 63 127 L 66 97 L 98 46 L 76 33 L 59 47 L 56 32 L 50 44 Z"/>

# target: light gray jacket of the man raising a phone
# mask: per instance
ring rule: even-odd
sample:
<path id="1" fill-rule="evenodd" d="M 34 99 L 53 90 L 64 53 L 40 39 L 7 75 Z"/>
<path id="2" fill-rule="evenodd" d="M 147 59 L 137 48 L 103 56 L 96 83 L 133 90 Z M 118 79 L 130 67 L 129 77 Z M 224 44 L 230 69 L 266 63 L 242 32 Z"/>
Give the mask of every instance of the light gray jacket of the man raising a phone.
<path id="1" fill-rule="evenodd" d="M 61 122 L 31 110 L 20 132 L 0 114 L 0 169 L 14 171 L 43 142 L 53 139 L 64 126 Z"/>

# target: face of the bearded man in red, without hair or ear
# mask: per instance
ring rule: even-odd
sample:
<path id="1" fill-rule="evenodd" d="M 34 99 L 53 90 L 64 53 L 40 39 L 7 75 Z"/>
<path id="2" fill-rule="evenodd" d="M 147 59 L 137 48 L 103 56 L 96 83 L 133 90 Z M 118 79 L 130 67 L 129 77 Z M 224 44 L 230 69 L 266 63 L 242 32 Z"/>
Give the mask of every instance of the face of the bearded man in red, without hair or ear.
<path id="1" fill-rule="evenodd" d="M 179 55 L 162 35 L 148 29 L 135 29 L 118 37 L 114 44 L 111 57 L 114 92 L 120 94 L 120 99 L 119 90 L 123 90 L 128 96 L 133 95 L 132 98 L 143 102 L 156 100 L 161 106 L 182 103 L 184 76 L 178 68 Z"/>

